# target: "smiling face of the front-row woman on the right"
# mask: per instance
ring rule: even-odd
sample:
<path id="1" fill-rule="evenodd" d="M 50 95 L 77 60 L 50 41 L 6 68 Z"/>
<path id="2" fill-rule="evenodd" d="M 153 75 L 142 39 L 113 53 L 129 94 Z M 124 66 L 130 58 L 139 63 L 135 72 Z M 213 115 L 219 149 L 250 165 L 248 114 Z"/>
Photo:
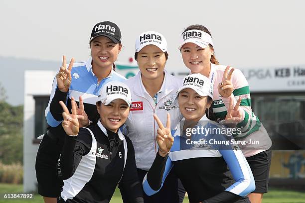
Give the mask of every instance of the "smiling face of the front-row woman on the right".
<path id="1" fill-rule="evenodd" d="M 206 108 L 211 107 L 208 96 L 200 96 L 191 88 L 179 93 L 179 109 L 186 120 L 198 121 L 205 114 Z"/>

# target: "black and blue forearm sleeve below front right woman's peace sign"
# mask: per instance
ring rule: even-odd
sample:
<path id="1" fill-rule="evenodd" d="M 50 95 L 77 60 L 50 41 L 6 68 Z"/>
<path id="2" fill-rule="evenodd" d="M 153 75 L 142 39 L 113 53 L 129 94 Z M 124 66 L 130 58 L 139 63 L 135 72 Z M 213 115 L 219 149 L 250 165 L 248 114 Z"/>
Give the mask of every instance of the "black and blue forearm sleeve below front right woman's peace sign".
<path id="1" fill-rule="evenodd" d="M 161 157 L 157 153 L 152 167 L 145 175 L 143 180 L 143 190 L 148 196 L 156 194 L 163 186 L 166 176 L 172 169 L 172 161 L 168 157 Z"/>

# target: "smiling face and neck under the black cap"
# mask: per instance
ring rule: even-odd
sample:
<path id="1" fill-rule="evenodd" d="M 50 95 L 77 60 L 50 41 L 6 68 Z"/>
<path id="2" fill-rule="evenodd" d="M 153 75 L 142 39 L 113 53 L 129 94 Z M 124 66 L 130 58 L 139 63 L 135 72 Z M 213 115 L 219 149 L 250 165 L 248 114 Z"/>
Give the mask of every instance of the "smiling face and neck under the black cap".
<path id="1" fill-rule="evenodd" d="M 99 36 L 90 43 L 92 67 L 111 69 L 122 49 L 122 44 L 116 44 L 105 36 Z"/>

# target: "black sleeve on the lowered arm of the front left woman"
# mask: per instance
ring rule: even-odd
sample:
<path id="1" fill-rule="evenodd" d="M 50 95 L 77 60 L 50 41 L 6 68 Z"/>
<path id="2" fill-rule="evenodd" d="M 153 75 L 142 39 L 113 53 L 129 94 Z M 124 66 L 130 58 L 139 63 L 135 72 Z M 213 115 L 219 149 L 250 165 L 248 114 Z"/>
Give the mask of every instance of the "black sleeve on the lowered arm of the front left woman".
<path id="1" fill-rule="evenodd" d="M 138 177 L 135 149 L 132 141 L 127 136 L 125 136 L 125 139 L 127 142 L 128 152 L 123 177 L 120 181 L 120 189 L 125 191 L 129 202 L 143 203 L 142 183 L 140 183 Z"/>

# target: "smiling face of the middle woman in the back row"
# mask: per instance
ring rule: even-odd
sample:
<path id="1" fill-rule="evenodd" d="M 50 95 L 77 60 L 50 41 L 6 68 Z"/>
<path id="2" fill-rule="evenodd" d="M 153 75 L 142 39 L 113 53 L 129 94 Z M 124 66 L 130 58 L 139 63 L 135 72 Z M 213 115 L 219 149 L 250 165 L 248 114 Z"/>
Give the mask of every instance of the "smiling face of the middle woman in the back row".
<path id="1" fill-rule="evenodd" d="M 164 52 L 157 46 L 145 46 L 138 53 L 137 61 L 142 80 L 153 80 L 163 77 L 166 58 Z"/>

